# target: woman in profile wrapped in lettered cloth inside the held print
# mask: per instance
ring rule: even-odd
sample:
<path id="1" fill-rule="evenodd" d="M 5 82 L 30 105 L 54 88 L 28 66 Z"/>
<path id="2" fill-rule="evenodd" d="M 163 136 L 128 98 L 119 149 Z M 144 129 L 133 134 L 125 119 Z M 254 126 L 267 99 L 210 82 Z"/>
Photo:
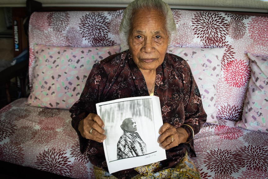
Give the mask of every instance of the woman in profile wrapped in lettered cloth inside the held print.
<path id="1" fill-rule="evenodd" d="M 147 154 L 146 144 L 137 131 L 137 125 L 133 118 L 123 120 L 121 129 L 124 133 L 117 143 L 117 159 L 136 157 Z"/>

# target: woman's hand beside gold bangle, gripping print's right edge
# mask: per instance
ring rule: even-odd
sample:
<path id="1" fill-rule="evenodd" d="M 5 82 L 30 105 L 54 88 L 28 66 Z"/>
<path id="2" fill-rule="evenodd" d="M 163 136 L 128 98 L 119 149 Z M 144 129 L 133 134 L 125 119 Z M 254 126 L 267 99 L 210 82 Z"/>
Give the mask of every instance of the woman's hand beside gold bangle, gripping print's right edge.
<path id="1" fill-rule="evenodd" d="M 187 142 L 188 133 L 183 128 L 176 129 L 169 123 L 165 122 L 159 129 L 159 138 L 157 142 L 159 146 L 168 150 L 169 148 L 178 146 L 183 142 Z"/>

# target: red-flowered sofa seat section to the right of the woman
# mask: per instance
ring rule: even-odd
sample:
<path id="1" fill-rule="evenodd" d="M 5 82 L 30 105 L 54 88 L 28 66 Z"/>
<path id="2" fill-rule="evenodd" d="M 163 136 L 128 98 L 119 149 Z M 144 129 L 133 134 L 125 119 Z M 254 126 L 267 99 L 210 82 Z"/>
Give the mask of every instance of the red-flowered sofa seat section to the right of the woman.
<path id="1" fill-rule="evenodd" d="M 268 133 L 235 127 L 235 121 L 205 123 L 194 137 L 192 158 L 203 179 L 267 178 Z"/>

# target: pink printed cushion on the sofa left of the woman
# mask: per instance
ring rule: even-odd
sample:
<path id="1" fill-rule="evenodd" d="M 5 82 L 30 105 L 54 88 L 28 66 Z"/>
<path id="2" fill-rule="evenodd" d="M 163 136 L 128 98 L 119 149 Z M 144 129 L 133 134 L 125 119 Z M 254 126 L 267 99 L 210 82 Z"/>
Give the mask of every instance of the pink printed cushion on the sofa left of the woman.
<path id="1" fill-rule="evenodd" d="M 35 45 L 34 52 L 29 104 L 69 109 L 79 99 L 93 64 L 119 53 L 120 45 L 87 48 Z"/>

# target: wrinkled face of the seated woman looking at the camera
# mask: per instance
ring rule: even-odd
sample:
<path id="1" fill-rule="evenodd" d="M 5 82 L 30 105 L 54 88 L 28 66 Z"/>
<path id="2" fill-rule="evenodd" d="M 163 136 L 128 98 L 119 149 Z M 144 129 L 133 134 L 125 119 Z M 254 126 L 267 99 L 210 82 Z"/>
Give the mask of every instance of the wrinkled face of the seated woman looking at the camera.
<path id="1" fill-rule="evenodd" d="M 141 71 L 155 70 L 164 61 L 169 41 L 164 21 L 159 12 L 149 9 L 136 12 L 133 18 L 128 44 Z"/>

